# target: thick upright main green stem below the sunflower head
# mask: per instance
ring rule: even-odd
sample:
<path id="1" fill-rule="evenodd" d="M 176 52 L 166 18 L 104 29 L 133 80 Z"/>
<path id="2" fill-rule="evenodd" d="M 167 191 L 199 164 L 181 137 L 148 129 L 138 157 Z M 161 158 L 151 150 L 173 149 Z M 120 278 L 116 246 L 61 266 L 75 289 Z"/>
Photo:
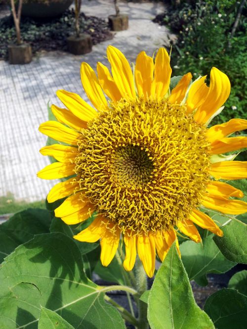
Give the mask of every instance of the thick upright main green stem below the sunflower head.
<path id="1" fill-rule="evenodd" d="M 141 296 L 143 292 L 147 290 L 147 275 L 144 271 L 141 261 L 136 260 L 136 277 L 137 277 L 137 290 L 139 295 Z M 148 329 L 148 320 L 147 320 L 147 310 L 148 305 L 143 301 L 139 300 L 138 302 L 138 322 L 140 329 Z"/>

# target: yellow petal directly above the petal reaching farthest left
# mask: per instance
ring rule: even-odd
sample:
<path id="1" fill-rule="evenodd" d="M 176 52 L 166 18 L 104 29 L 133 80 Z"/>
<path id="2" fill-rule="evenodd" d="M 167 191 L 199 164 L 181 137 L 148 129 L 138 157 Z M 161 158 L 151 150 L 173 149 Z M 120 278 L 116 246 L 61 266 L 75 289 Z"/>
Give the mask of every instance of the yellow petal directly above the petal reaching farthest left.
<path id="1" fill-rule="evenodd" d="M 62 163 L 73 163 L 75 162 L 75 157 L 78 154 L 78 149 L 76 147 L 53 144 L 44 146 L 40 149 L 40 153 L 43 156 L 50 156 L 55 158 L 57 161 Z"/>

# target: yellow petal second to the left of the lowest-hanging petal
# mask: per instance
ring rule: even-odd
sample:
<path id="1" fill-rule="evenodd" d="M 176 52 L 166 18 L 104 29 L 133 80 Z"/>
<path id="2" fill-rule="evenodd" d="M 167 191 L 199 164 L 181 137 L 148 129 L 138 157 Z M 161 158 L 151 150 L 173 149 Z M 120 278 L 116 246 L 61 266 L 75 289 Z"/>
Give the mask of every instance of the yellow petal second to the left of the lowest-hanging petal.
<path id="1" fill-rule="evenodd" d="M 111 224 L 113 228 L 114 224 Z M 109 227 L 109 226 L 108 226 Z M 119 239 L 120 239 L 120 229 L 115 227 L 114 234 L 108 228 L 105 230 L 103 236 L 100 240 L 101 246 L 101 253 L 100 253 L 100 260 L 103 266 L 108 266 L 119 246 Z"/>

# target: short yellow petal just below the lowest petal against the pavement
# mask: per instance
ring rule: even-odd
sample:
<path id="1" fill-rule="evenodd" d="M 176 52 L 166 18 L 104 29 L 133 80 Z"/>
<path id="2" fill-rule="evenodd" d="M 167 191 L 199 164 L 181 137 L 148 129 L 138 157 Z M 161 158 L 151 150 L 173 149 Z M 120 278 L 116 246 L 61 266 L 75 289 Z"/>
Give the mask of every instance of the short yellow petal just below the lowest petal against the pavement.
<path id="1" fill-rule="evenodd" d="M 85 203 L 86 203 L 86 202 L 82 201 L 82 198 L 83 198 L 83 196 L 81 193 L 77 193 L 77 194 L 70 196 L 62 203 L 62 205 L 60 205 L 59 207 L 57 207 L 55 209 L 55 216 L 64 217 L 64 216 L 68 216 L 76 211 L 79 211 L 80 209 L 82 209 L 85 206 Z"/>

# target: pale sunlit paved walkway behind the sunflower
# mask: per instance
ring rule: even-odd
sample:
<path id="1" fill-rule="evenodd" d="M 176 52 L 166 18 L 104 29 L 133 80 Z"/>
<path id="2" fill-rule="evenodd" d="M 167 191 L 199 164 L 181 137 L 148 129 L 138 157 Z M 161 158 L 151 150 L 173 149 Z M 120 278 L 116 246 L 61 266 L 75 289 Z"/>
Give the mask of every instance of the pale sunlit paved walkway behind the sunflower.
<path id="1" fill-rule="evenodd" d="M 114 13 L 113 0 L 84 0 L 82 11 L 107 19 Z M 119 47 L 129 61 L 135 61 L 141 50 L 152 55 L 167 44 L 168 30 L 151 20 L 164 10 L 162 2 L 122 2 L 122 13 L 129 15 L 129 29 L 114 39 L 93 46 L 87 55 L 49 52 L 36 55 L 28 65 L 9 65 L 0 61 L 0 196 L 13 193 L 16 200 L 41 200 L 54 181 L 37 178 L 46 164 L 39 149 L 46 138 L 39 131 L 47 120 L 47 103 L 59 105 L 55 92 L 66 89 L 87 100 L 80 81 L 80 64 L 86 61 L 95 68 L 97 61 L 106 64 L 106 47 Z"/>

